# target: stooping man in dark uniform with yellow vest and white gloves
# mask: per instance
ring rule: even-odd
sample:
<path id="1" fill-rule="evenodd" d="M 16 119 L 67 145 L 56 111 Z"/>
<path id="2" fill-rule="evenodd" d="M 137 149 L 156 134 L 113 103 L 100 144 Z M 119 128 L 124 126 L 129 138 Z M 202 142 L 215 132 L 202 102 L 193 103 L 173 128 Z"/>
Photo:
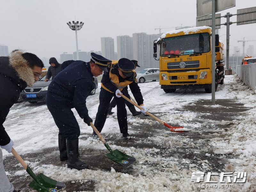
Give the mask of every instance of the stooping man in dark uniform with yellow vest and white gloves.
<path id="1" fill-rule="evenodd" d="M 108 107 L 112 97 L 115 97 L 117 105 L 117 120 L 120 132 L 124 139 L 130 139 L 127 125 L 127 111 L 125 109 L 125 100 L 120 94 L 124 92 L 124 88 L 128 85 L 132 91 L 138 105 L 143 108 L 142 113 L 146 113 L 146 107 L 143 105 L 143 97 L 140 87 L 137 84 L 134 64 L 131 60 L 122 58 L 118 63 L 108 64 L 108 72 L 104 72 L 101 80 L 100 88 L 100 105 L 95 119 L 95 127 L 101 132 L 108 114 Z M 92 133 L 93 138 L 97 138 L 95 132 Z"/>

